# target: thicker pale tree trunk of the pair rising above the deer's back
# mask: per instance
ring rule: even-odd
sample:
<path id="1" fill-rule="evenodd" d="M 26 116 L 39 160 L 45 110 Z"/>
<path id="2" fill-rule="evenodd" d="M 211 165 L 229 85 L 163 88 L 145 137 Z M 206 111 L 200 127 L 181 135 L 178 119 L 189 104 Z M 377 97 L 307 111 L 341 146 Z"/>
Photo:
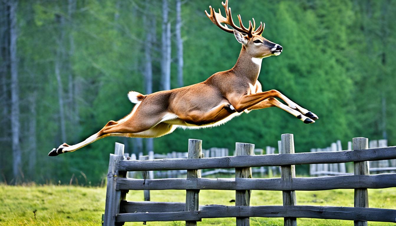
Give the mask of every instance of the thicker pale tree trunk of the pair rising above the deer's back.
<path id="1" fill-rule="evenodd" d="M 168 0 L 162 0 L 161 89 L 171 89 L 171 24 L 168 21 Z"/>

